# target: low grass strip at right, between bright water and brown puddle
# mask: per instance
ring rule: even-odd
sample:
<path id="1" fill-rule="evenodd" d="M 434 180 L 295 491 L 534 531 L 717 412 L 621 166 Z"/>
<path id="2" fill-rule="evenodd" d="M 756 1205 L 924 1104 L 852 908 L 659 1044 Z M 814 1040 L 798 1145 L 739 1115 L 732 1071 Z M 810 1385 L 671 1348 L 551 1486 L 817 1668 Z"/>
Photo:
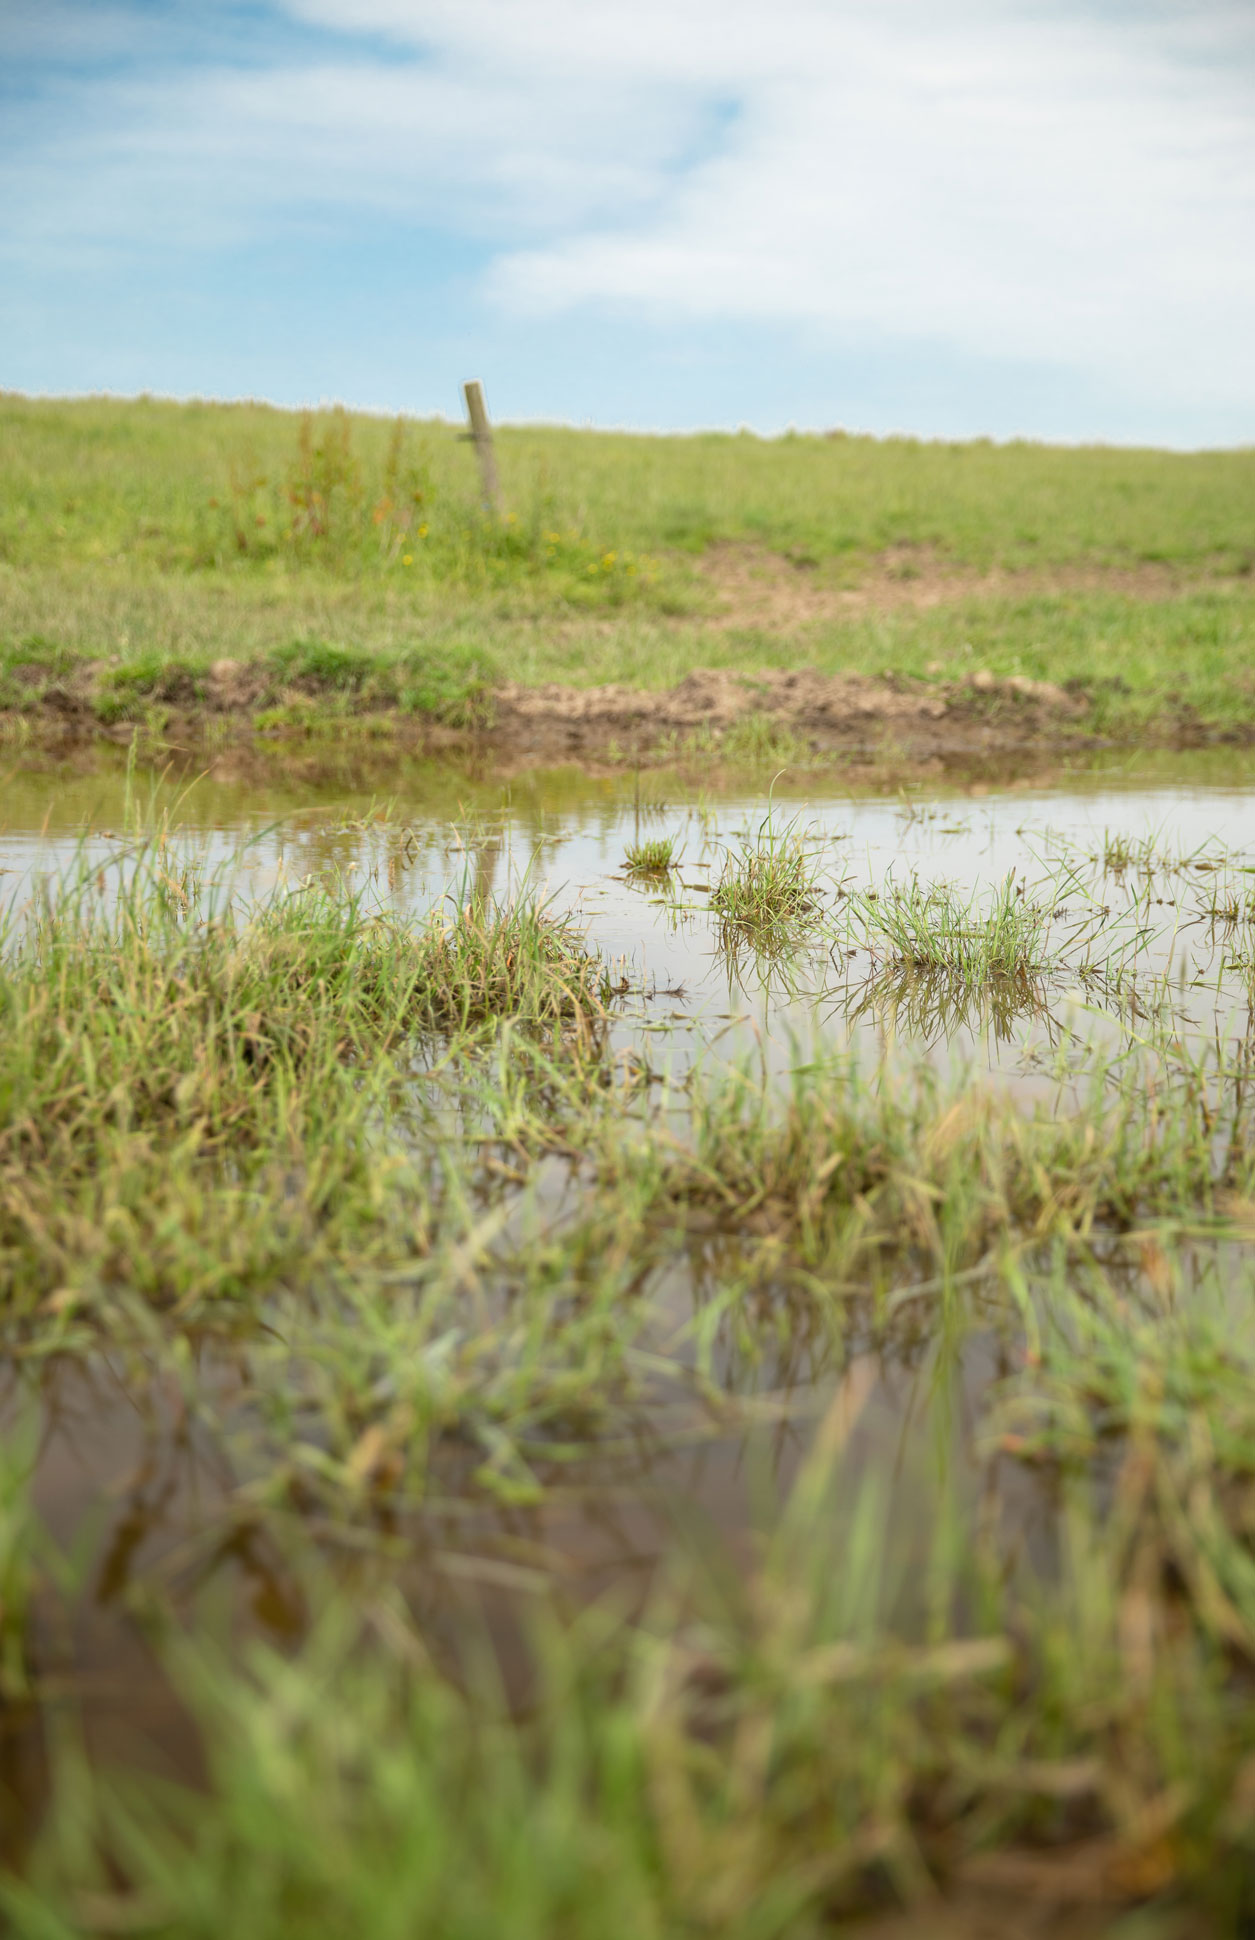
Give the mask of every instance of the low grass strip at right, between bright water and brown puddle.
<path id="1" fill-rule="evenodd" d="M 784 1098 L 747 1073 L 692 1090 L 692 1139 L 658 1166 L 627 1143 L 619 1164 L 654 1168 L 685 1214 L 725 1222 L 758 1273 L 811 1284 L 830 1306 L 855 1290 L 966 1271 L 1046 1240 L 1088 1245 L 1141 1220 L 1212 1216 L 1255 1183 L 1238 1069 L 1144 1059 L 1092 1075 L 1075 1114 L 927 1071 L 892 1084 L 852 1061 L 797 1065 Z"/>

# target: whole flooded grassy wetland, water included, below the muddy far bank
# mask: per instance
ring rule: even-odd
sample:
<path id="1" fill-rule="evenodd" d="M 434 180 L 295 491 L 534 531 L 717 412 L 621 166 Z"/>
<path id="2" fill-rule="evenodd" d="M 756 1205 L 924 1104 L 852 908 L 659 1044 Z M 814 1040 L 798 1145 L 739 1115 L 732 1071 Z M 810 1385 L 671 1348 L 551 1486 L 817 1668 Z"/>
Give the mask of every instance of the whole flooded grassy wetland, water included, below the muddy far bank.
<path id="1" fill-rule="evenodd" d="M 1243 797 L 570 786 L 6 836 L 10 1928 L 1236 1930 Z"/>

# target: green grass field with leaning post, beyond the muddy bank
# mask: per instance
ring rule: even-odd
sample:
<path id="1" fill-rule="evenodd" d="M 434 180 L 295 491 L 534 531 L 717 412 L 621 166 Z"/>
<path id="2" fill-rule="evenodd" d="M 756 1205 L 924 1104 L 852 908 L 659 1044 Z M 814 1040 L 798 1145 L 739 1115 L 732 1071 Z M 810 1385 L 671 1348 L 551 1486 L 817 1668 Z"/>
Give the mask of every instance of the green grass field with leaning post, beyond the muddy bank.
<path id="1" fill-rule="evenodd" d="M 144 720 L 221 658 L 272 716 L 295 683 L 454 724 L 504 679 L 987 667 L 1080 683 L 1096 731 L 1255 728 L 1255 452 L 543 427 L 499 452 L 500 522 L 444 423 L 0 400 L 0 706 L 81 677 L 105 726 Z"/>

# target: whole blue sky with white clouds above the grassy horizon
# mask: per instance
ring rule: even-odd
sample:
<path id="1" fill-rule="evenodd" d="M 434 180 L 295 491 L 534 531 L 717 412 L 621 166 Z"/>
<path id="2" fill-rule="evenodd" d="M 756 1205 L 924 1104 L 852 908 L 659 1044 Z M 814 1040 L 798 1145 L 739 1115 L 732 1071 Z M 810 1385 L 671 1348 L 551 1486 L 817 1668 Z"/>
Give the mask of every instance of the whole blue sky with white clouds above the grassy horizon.
<path id="1" fill-rule="evenodd" d="M 1255 442 L 1255 0 L 0 0 L 0 388 Z"/>

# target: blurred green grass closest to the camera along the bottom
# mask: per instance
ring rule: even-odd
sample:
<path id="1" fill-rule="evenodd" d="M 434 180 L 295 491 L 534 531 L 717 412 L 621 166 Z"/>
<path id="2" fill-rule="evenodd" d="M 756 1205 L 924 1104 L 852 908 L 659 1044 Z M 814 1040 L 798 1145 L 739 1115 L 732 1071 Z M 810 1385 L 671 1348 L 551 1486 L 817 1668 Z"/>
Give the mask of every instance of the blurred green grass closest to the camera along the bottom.
<path id="1" fill-rule="evenodd" d="M 10 1930 L 786 1940 L 999 1888 L 985 1917 L 1141 1903 L 1158 1932 L 1239 1930 L 1251 1597 L 1199 1579 L 1189 1523 L 1148 1542 L 1154 1436 L 1115 1529 L 1065 1486 L 1057 1575 L 1032 1581 L 952 1488 L 919 1531 L 844 1461 L 869 1391 L 855 1370 L 745 1581 L 691 1552 L 644 1624 L 537 1622 L 522 1721 L 491 1676 L 440 1676 L 388 1597 L 334 1599 L 295 1661 L 175 1639 L 208 1787 L 99 1787 L 62 1736 Z"/>

